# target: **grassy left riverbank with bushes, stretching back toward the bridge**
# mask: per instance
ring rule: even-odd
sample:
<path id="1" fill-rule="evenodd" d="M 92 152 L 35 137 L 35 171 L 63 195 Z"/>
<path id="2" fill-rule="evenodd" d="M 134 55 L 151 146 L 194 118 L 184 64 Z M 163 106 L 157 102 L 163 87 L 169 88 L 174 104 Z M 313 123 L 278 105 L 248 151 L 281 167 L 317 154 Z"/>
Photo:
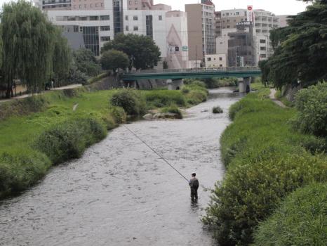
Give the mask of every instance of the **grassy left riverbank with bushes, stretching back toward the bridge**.
<path id="1" fill-rule="evenodd" d="M 105 138 L 107 130 L 124 123 L 124 109 L 110 103 L 116 91 L 72 89 L 1 103 L 0 198 L 32 186 L 54 164 L 80 157 L 85 148 Z M 145 112 L 200 103 L 203 89 L 135 93 L 145 101 Z"/>

